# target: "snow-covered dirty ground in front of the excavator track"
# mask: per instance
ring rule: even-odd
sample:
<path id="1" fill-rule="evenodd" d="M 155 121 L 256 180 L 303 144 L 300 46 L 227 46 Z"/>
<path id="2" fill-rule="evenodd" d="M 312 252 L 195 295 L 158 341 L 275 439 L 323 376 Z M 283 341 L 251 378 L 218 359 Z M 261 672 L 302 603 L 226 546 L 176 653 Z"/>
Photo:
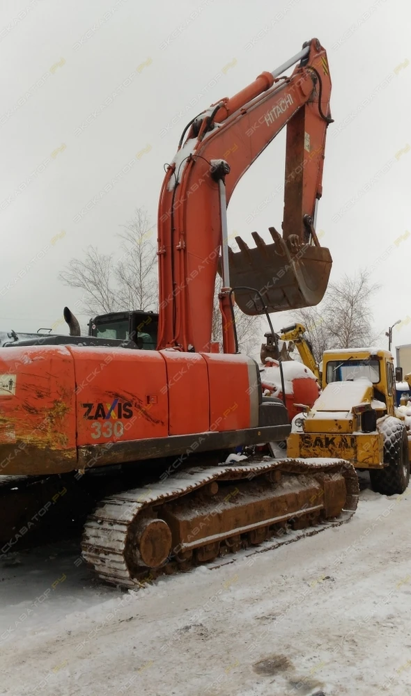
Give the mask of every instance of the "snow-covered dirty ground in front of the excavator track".
<path id="1" fill-rule="evenodd" d="M 0 565 L 0 693 L 405 696 L 411 490 L 365 489 L 350 523 L 139 592 L 75 542 Z M 77 561 L 77 563 L 76 563 Z"/>

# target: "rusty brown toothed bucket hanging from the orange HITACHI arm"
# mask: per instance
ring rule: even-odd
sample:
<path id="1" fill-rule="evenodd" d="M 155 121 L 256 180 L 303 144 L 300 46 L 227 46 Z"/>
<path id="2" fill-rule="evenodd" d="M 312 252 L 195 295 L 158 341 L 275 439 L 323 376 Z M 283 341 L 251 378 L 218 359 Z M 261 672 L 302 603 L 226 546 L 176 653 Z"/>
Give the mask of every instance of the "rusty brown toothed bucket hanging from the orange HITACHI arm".
<path id="1" fill-rule="evenodd" d="M 327 290 L 332 258 L 329 249 L 316 244 L 287 244 L 270 228 L 274 242 L 265 244 L 253 232 L 256 246 L 249 248 L 235 237 L 240 251 L 228 248 L 230 285 L 255 288 L 269 312 L 281 312 L 317 305 Z M 235 302 L 247 315 L 264 313 L 263 303 L 252 290 L 235 290 Z"/>

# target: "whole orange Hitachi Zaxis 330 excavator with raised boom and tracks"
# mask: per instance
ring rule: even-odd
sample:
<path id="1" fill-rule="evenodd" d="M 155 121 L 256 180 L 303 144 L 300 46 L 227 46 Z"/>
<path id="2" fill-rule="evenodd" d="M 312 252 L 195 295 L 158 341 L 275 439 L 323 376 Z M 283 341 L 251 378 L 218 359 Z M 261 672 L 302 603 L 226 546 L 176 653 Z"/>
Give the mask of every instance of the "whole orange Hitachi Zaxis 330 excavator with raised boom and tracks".
<path id="1" fill-rule="evenodd" d="M 325 528 L 353 514 L 358 482 L 347 461 L 272 456 L 269 443 L 290 432 L 287 411 L 262 397 L 233 315 L 234 302 L 269 319 L 323 297 L 332 259 L 315 220 L 330 91 L 326 52 L 313 39 L 185 127 L 160 194 L 156 350 L 66 337 L 1 351 L 0 468 L 11 477 L 3 539 L 13 530 L 2 553 L 59 505 L 70 516 L 82 509 L 84 559 L 102 580 L 136 587 L 267 539 L 277 545 L 287 526 Z M 238 237 L 234 253 L 228 201 L 285 126 L 283 235 L 270 228 L 265 244 L 254 232 L 253 248 Z M 218 269 L 224 354 L 211 341 Z"/>

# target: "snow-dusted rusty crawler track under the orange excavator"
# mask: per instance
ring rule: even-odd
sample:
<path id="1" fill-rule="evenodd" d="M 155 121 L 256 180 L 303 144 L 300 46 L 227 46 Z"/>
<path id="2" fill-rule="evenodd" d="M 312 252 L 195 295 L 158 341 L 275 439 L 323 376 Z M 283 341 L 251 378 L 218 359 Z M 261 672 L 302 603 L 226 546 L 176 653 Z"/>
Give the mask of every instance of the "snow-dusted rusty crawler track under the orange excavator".
<path id="1" fill-rule="evenodd" d="M 358 503 L 355 468 L 343 459 L 247 460 L 193 467 L 104 498 L 88 517 L 82 553 L 106 583 L 136 588 L 188 571 L 284 530 L 313 535 L 347 522 Z"/>

